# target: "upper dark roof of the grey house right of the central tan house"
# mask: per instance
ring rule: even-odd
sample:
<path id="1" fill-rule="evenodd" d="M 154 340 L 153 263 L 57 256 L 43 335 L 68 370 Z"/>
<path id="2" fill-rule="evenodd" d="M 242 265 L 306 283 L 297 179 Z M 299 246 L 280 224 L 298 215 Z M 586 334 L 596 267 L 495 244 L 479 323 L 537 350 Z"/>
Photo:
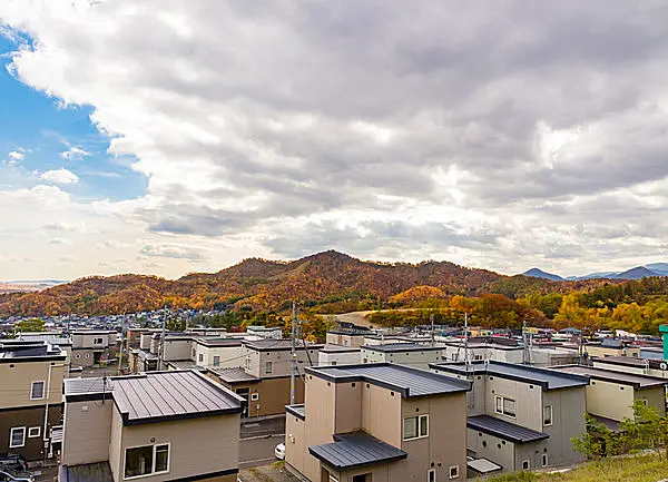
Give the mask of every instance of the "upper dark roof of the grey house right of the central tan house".
<path id="1" fill-rule="evenodd" d="M 539 368 L 537 366 L 519 365 L 515 363 L 492 361 L 475 362 L 471 364 L 470 371 L 468 370 L 466 364 L 463 362 L 432 363 L 429 366 L 430 368 L 440 372 L 455 373 L 459 375 L 487 374 L 499 376 L 501 378 L 532 383 L 540 385 L 542 390 L 546 391 L 589 385 L 589 378 L 582 375 L 577 375 L 574 373 L 561 373 L 549 368 Z"/>

